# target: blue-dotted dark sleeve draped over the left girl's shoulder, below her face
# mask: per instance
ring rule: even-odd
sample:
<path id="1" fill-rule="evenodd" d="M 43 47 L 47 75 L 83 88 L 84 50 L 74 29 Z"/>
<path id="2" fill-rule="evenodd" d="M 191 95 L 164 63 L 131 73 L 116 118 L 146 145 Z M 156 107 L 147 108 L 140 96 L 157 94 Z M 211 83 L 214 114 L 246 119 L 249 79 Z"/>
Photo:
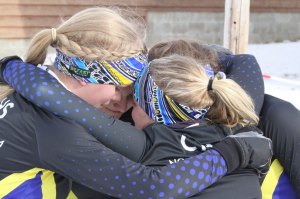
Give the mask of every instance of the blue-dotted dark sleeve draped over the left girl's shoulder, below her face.
<path id="1" fill-rule="evenodd" d="M 134 161 L 142 157 L 146 137 L 141 130 L 100 112 L 66 90 L 48 72 L 21 60 L 11 60 L 5 66 L 3 78 L 37 106 L 87 127 L 108 148 Z"/>

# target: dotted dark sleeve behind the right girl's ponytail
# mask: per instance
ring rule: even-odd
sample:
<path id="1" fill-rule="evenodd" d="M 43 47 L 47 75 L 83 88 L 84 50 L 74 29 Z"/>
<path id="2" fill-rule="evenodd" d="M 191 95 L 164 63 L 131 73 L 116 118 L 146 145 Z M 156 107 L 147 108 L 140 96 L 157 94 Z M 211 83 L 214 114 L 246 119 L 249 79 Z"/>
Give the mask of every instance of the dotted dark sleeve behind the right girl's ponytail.
<path id="1" fill-rule="evenodd" d="M 253 99 L 259 114 L 264 100 L 264 81 L 260 66 L 253 55 L 225 55 L 220 57 L 221 71 L 237 82 Z"/>

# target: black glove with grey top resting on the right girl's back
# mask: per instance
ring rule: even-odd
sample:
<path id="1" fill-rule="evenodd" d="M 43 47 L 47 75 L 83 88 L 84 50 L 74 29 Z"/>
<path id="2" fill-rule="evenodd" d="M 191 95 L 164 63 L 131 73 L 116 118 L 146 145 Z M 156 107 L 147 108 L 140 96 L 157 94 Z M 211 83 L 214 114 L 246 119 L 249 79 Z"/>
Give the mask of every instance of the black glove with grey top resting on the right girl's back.
<path id="1" fill-rule="evenodd" d="M 264 175 L 270 168 L 272 141 L 256 131 L 230 135 L 214 147 L 227 162 L 228 172 L 237 168 L 252 168 Z"/>

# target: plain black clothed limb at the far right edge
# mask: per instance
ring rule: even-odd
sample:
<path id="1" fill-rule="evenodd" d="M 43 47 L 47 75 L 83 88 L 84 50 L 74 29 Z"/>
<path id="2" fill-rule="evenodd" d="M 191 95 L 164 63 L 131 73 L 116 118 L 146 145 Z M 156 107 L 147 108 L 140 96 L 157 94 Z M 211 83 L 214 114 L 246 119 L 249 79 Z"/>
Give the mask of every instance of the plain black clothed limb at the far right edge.
<path id="1" fill-rule="evenodd" d="M 300 196 L 300 111 L 291 103 L 266 94 L 260 118 L 259 128 L 272 139 L 274 156 Z"/>

